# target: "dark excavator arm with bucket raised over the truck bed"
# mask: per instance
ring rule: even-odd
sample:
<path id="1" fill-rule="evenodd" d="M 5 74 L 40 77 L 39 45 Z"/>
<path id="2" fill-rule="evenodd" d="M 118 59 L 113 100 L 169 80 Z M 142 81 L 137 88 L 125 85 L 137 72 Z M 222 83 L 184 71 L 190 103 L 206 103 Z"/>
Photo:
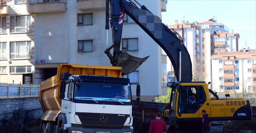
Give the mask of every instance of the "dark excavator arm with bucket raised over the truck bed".
<path id="1" fill-rule="evenodd" d="M 135 2 L 137 2 L 137 0 L 135 0 Z M 139 25 L 139 27 L 153 38 L 160 47 L 162 47 L 171 60 L 176 78 L 178 80 L 180 79 L 180 81 L 192 81 L 192 63 L 190 55 L 185 45 L 183 45 L 181 36 L 178 33 L 175 31 L 172 32 L 162 23 L 162 20 L 158 16 L 153 15 L 144 5 L 140 5 L 139 2 L 137 2 L 137 4 L 141 8 L 138 8 L 131 0 L 106 0 L 106 14 L 109 9 L 109 3 L 111 10 L 110 24 L 112 27 L 114 44 L 108 48 L 105 53 L 110 58 L 112 65 L 122 66 L 123 71 L 133 72 L 149 57 L 147 56 L 140 59 L 120 51 L 123 16 L 124 14 L 127 14 L 135 21 L 135 23 L 137 23 L 137 25 Z M 108 15 L 106 15 L 106 18 L 107 16 Z M 108 20 L 106 19 L 106 29 L 107 24 Z M 114 56 L 109 52 L 113 47 Z M 135 65 L 133 63 L 135 63 Z M 129 67 L 126 67 L 126 65 Z"/>

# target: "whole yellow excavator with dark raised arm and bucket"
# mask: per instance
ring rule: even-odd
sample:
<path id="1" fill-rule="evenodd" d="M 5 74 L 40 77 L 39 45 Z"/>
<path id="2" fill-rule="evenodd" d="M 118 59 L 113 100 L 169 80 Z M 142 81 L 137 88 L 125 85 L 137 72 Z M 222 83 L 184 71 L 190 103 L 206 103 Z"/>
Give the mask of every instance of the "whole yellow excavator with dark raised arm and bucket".
<path id="1" fill-rule="evenodd" d="M 109 5 L 111 7 L 109 7 Z M 109 12 L 109 9 L 111 11 Z M 208 88 L 205 82 L 192 82 L 192 63 L 190 54 L 183 44 L 181 36 L 169 29 L 162 20 L 155 16 L 137 0 L 106 0 L 106 25 L 112 27 L 113 45 L 105 50 L 114 66 L 123 67 L 123 74 L 135 71 L 149 57 L 138 58 L 120 50 L 123 28 L 123 16 L 127 14 L 165 51 L 173 65 L 179 82 L 168 83 L 171 87 L 172 106 L 165 110 L 165 118 L 171 124 L 167 132 L 179 129 L 200 127 L 201 111 L 206 110 L 210 121 L 249 120 L 252 118 L 251 105 L 242 98 L 219 99 L 217 93 Z M 111 18 L 111 20 L 109 20 Z M 113 56 L 110 50 L 113 48 Z M 188 98 L 194 93 L 197 102 L 190 104 Z M 210 94 L 213 97 L 210 97 Z M 181 131 L 183 132 L 183 131 Z M 194 131 L 197 133 L 198 131 Z"/>

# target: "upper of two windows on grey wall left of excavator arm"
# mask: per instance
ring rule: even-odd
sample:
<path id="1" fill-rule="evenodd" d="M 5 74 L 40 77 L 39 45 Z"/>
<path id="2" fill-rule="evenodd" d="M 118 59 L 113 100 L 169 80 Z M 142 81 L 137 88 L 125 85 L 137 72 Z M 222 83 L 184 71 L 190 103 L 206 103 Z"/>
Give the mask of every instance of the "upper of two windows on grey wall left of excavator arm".
<path id="1" fill-rule="evenodd" d="M 78 25 L 93 25 L 92 13 L 78 14 Z"/>

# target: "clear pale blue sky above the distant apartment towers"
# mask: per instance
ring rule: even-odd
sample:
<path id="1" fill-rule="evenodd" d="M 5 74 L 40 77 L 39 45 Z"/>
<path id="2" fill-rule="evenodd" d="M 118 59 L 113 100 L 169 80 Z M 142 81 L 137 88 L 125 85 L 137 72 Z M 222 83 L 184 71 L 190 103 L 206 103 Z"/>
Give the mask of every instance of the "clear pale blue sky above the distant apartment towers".
<path id="1" fill-rule="evenodd" d="M 229 32 L 240 34 L 239 50 L 256 49 L 256 0 L 168 0 L 162 23 L 174 25 L 175 20 L 202 23 L 213 16 Z"/>

